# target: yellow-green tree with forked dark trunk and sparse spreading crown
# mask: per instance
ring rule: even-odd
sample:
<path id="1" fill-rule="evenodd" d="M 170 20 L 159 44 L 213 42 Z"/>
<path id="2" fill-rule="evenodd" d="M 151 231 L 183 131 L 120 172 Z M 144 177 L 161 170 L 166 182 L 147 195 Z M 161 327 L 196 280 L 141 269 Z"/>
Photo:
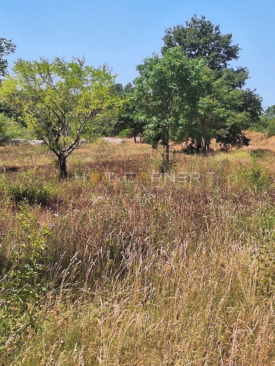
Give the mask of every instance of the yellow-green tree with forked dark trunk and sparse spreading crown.
<path id="1" fill-rule="evenodd" d="M 114 85 L 107 66 L 84 65 L 84 59 L 52 62 L 19 59 L 14 76 L 7 78 L 1 96 L 24 123 L 58 158 L 61 178 L 67 177 L 66 159 L 98 131 L 97 117 L 115 105 Z"/>

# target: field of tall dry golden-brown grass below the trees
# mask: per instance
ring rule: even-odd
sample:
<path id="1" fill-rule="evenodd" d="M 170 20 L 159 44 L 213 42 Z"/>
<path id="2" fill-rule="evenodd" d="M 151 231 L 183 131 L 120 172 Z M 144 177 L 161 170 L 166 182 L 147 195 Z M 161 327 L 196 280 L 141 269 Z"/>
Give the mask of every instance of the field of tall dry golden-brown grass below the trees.
<path id="1" fill-rule="evenodd" d="M 275 144 L 250 134 L 166 176 L 132 141 L 65 181 L 43 146 L 1 147 L 0 365 L 275 365 Z"/>

